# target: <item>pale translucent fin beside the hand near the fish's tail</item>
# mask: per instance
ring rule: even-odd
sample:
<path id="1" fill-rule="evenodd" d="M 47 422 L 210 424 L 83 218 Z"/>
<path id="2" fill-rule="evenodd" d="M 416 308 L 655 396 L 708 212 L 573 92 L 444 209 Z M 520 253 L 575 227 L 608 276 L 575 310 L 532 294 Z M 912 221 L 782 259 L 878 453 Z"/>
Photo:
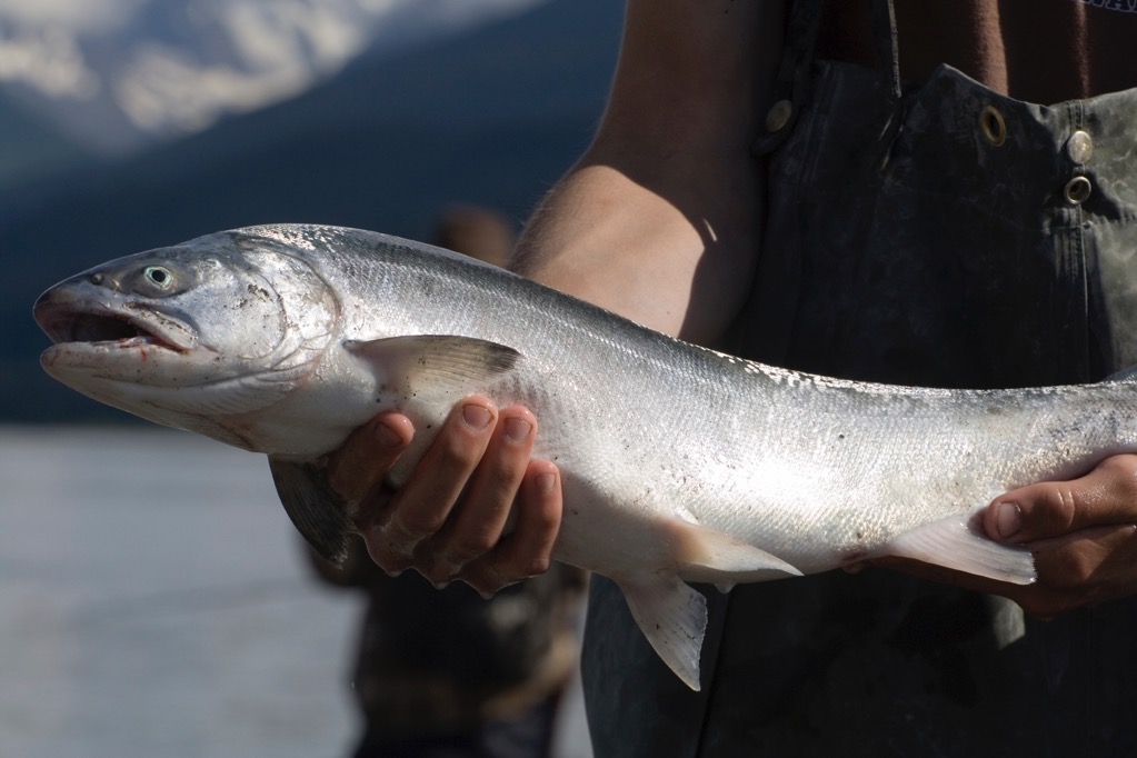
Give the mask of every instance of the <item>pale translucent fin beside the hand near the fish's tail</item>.
<path id="1" fill-rule="evenodd" d="M 1032 584 L 1037 578 L 1028 548 L 995 542 L 981 527 L 969 524 L 966 516 L 951 516 L 905 532 L 881 552 L 1012 584 Z"/>

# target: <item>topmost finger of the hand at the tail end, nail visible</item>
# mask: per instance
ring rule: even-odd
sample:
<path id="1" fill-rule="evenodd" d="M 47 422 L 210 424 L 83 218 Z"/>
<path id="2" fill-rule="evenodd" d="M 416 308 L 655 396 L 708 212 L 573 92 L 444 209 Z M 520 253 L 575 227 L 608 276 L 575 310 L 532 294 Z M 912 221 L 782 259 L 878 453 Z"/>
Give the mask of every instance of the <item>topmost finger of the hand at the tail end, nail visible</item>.
<path id="1" fill-rule="evenodd" d="M 1070 482 L 1012 490 L 984 513 L 988 536 L 1029 542 L 1090 526 L 1137 522 L 1137 456 L 1106 458 Z"/>

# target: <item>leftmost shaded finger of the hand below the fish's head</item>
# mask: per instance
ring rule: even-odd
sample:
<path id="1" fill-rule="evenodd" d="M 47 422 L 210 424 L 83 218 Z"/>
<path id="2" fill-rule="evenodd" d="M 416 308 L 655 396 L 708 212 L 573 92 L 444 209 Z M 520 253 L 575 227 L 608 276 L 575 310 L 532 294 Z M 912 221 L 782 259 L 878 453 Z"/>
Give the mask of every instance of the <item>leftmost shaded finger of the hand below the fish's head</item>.
<path id="1" fill-rule="evenodd" d="M 375 489 L 410 444 L 415 430 L 398 413 L 376 416 L 355 430 L 327 460 L 332 488 L 348 502 Z"/>

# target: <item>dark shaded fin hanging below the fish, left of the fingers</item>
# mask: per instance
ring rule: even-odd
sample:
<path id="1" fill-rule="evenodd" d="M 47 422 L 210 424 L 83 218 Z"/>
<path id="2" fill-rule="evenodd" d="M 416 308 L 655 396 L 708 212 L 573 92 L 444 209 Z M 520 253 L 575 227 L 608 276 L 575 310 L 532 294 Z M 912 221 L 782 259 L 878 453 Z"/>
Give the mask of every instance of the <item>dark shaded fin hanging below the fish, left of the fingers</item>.
<path id="1" fill-rule="evenodd" d="M 347 506 L 327 481 L 327 467 L 268 457 L 284 513 L 308 544 L 339 566 L 348 555 Z"/>

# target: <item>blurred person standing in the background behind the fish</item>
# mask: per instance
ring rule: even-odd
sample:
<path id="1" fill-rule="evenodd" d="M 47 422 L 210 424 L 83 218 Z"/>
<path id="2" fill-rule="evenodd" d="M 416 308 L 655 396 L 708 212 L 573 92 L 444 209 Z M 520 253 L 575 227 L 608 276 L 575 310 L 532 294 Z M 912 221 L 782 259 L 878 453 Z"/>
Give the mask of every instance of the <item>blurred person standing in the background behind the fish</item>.
<path id="1" fill-rule="evenodd" d="M 500 265 L 513 231 L 468 206 L 445 211 L 432 240 Z M 356 758 L 543 758 L 575 672 L 584 574 L 546 574 L 484 600 L 456 582 L 388 576 L 352 543 L 341 568 L 309 551 L 321 577 L 367 593 L 352 688 L 365 720 Z"/>

